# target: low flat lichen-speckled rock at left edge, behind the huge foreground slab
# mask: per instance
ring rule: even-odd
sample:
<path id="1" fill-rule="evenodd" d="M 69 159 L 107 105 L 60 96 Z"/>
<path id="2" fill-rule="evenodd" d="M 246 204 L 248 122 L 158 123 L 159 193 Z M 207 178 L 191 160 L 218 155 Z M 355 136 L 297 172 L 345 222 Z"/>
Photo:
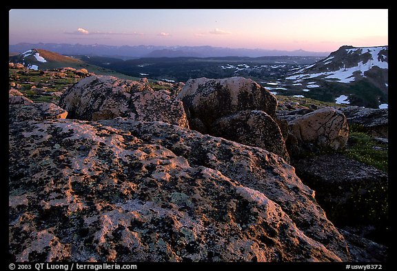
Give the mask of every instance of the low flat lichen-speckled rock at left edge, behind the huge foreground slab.
<path id="1" fill-rule="evenodd" d="M 18 96 L 19 97 L 19 96 Z M 65 119 L 68 112 L 54 103 L 28 103 L 8 106 L 8 122 L 43 119 Z"/>

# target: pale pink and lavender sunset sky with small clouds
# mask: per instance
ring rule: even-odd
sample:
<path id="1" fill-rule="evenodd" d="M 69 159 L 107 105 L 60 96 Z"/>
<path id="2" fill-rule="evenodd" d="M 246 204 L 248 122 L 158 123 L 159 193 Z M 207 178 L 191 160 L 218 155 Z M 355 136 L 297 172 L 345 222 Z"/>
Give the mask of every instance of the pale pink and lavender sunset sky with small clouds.
<path id="1" fill-rule="evenodd" d="M 14 9 L 9 23 L 9 44 L 208 45 L 315 52 L 343 45 L 388 45 L 385 9 Z"/>

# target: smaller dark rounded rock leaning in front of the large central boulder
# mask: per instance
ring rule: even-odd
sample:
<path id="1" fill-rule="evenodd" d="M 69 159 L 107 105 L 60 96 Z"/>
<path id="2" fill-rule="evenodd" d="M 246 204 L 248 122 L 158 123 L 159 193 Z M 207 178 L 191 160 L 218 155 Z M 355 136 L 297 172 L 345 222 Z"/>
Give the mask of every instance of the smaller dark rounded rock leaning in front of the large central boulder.
<path id="1" fill-rule="evenodd" d="M 211 126 L 212 135 L 274 152 L 289 161 L 281 129 L 263 111 L 245 110 L 217 119 Z"/>

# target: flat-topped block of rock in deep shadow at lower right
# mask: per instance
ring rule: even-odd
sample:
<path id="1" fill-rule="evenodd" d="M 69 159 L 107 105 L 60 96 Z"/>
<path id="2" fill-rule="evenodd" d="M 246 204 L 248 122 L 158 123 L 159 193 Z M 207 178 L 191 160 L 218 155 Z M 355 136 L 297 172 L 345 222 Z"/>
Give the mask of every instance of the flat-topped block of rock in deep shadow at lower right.
<path id="1" fill-rule="evenodd" d="M 387 241 L 387 174 L 340 154 L 300 158 L 292 165 L 338 228 Z"/>

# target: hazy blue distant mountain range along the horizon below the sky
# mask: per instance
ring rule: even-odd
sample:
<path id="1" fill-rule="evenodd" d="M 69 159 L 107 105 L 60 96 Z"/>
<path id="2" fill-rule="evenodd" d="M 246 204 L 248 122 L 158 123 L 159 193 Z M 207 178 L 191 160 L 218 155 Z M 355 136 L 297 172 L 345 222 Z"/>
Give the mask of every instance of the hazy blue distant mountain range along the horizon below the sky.
<path id="1" fill-rule="evenodd" d="M 26 52 L 41 48 L 59 54 L 88 55 L 132 59 L 137 57 L 326 57 L 329 52 L 308 52 L 305 50 L 264 50 L 245 48 L 223 48 L 213 46 L 106 46 L 101 44 L 69 43 L 18 43 L 9 45 L 9 52 Z"/>

